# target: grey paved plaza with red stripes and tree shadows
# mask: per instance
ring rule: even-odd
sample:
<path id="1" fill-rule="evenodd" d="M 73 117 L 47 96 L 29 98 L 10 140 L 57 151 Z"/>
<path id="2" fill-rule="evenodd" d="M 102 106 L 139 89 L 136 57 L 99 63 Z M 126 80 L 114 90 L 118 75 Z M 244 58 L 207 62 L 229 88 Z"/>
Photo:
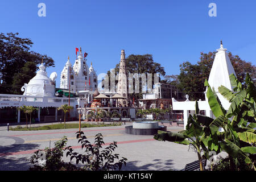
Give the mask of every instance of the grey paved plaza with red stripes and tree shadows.
<path id="1" fill-rule="evenodd" d="M 127 125 L 131 123 L 126 122 Z M 183 127 L 167 127 L 167 130 L 176 132 L 183 130 Z M 77 129 L 7 131 L 6 127 L 0 127 L 0 170 L 27 170 L 30 167 L 29 158 L 34 151 L 49 147 L 50 144 L 53 147 L 54 142 L 63 136 L 68 137 L 67 146 L 81 152 L 76 131 Z M 128 159 L 123 170 L 179 170 L 185 164 L 197 160 L 196 153 L 188 151 L 188 146 L 159 142 L 151 135 L 129 135 L 125 133 L 124 125 L 84 128 L 82 131 L 92 143 L 97 133 L 104 136 L 106 145 L 116 141 L 118 148 L 115 153 Z M 64 160 L 69 162 L 69 158 Z"/>

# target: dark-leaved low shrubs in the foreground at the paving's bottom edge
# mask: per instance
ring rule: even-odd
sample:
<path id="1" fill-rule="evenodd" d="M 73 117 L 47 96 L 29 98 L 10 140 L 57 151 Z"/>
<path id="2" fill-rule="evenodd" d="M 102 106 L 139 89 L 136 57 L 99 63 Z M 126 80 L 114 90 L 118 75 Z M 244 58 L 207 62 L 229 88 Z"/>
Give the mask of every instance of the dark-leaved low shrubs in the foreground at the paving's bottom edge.
<path id="1" fill-rule="evenodd" d="M 119 154 L 113 154 L 115 148 L 117 148 L 117 142 L 110 143 L 108 147 L 102 150 L 103 141 L 102 134 L 95 136 L 94 144 L 91 144 L 84 133 L 77 132 L 78 143 L 82 148 L 86 150 L 79 154 L 73 152 L 71 146 L 66 147 L 67 137 L 63 137 L 61 140 L 55 142 L 54 148 L 46 147 L 44 150 L 38 150 L 34 152 L 34 155 L 30 158 L 30 163 L 34 166 L 30 167 L 30 171 L 109 171 L 110 169 L 121 169 L 123 164 L 126 165 L 126 158 L 119 159 Z M 76 164 L 82 163 L 84 167 L 80 168 L 72 164 L 66 163 L 62 160 L 64 151 L 67 150 L 66 156 L 69 156 L 71 161 L 76 159 Z M 46 158 L 45 162 L 42 161 L 42 152 L 44 152 Z"/>

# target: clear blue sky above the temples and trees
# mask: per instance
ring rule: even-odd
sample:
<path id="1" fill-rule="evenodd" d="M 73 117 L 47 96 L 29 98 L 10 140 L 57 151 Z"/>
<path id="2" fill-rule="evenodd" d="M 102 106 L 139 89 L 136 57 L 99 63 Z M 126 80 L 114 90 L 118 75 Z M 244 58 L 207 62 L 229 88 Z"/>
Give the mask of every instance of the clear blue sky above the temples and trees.
<path id="1" fill-rule="evenodd" d="M 46 17 L 38 4 L 46 4 Z M 217 17 L 210 17 L 209 3 Z M 50 1 L 0 2 L 0 32 L 19 32 L 30 38 L 32 50 L 55 60 L 48 76 L 60 73 L 75 47 L 88 52 L 97 74 L 119 63 L 121 49 L 130 54 L 152 54 L 167 75 L 179 74 L 184 61 L 196 63 L 200 52 L 224 47 L 241 59 L 256 63 L 256 1 Z"/>

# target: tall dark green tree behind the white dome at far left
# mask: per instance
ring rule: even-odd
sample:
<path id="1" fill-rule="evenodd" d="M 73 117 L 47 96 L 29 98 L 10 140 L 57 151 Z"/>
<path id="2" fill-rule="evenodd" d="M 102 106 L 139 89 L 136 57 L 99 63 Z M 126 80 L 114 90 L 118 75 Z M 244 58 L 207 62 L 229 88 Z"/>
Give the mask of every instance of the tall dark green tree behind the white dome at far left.
<path id="1" fill-rule="evenodd" d="M 51 57 L 31 51 L 32 41 L 18 35 L 12 32 L 0 34 L 0 93 L 21 93 L 20 86 L 35 76 L 36 65 L 42 59 L 46 67 L 54 67 Z"/>

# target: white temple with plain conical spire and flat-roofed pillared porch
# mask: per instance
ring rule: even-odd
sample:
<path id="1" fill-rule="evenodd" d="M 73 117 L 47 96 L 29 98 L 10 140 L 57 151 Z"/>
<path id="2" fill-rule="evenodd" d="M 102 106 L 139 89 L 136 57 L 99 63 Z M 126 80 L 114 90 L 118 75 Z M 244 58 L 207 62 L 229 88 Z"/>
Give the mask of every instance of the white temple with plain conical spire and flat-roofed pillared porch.
<path id="1" fill-rule="evenodd" d="M 231 90 L 232 86 L 231 86 L 231 83 L 229 80 L 229 75 L 231 75 L 232 73 L 234 73 L 234 75 L 236 75 L 226 50 L 227 49 L 225 49 L 223 47 L 222 42 L 221 42 L 221 46 L 219 49 L 217 49 L 218 52 L 216 53 L 216 55 L 214 57 L 214 61 L 213 61 L 212 69 L 210 70 L 208 82 L 209 82 L 210 87 L 215 90 L 224 109 L 228 110 L 230 103 L 224 97 L 222 97 L 220 93 L 218 93 L 218 87 L 221 85 L 226 86 L 226 88 Z M 173 110 L 183 110 L 184 129 L 187 125 L 189 114 L 195 113 L 195 101 L 189 101 L 188 95 L 186 96 L 186 98 L 187 98 L 187 100 L 183 101 L 183 102 L 177 102 L 174 98 L 172 98 Z M 205 110 L 205 114 L 208 117 L 215 118 L 212 111 L 210 110 L 206 92 L 205 92 L 205 101 L 198 101 L 198 105 L 199 105 L 200 110 Z"/>

